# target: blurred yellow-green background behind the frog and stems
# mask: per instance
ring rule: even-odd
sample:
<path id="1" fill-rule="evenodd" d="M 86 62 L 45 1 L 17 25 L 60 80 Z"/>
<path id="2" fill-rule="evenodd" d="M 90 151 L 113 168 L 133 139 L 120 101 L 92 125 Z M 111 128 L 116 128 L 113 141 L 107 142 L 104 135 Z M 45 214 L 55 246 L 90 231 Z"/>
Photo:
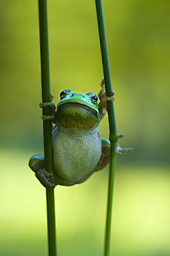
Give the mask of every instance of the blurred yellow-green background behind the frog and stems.
<path id="1" fill-rule="evenodd" d="M 170 2 L 103 0 L 122 146 L 111 255 L 170 255 Z M 45 189 L 28 168 L 43 154 L 37 1 L 1 1 L 0 255 L 47 255 Z M 48 1 L 51 92 L 95 92 L 103 79 L 95 1 Z M 108 138 L 108 118 L 99 127 Z M 58 255 L 103 255 L 108 168 L 55 188 Z"/>

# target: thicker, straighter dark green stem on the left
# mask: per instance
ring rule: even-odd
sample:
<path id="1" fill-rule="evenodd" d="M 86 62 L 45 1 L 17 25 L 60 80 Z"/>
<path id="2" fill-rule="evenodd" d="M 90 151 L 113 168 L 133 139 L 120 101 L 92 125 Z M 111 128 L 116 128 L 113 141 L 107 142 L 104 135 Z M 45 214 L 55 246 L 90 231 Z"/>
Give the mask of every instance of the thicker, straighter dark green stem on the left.
<path id="1" fill-rule="evenodd" d="M 39 23 L 40 23 L 40 56 L 41 56 L 41 81 L 42 102 L 50 102 L 50 69 L 48 53 L 47 33 L 47 1 L 39 0 Z M 50 107 L 45 107 L 42 114 L 50 115 Z M 45 170 L 53 173 L 52 167 L 52 123 L 51 120 L 43 121 Z M 56 256 L 55 235 L 55 195 L 54 189 L 46 188 L 47 198 L 47 230 L 49 256 Z"/>

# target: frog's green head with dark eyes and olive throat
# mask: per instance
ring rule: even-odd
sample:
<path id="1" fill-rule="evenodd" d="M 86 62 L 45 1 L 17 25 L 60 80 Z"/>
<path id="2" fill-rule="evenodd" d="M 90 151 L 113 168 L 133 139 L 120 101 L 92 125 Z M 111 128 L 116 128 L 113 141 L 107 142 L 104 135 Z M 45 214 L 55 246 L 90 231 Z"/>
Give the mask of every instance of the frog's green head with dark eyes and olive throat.
<path id="1" fill-rule="evenodd" d="M 101 116 L 97 101 L 98 97 L 93 92 L 83 95 L 63 90 L 57 105 L 57 124 L 79 132 L 98 127 Z"/>

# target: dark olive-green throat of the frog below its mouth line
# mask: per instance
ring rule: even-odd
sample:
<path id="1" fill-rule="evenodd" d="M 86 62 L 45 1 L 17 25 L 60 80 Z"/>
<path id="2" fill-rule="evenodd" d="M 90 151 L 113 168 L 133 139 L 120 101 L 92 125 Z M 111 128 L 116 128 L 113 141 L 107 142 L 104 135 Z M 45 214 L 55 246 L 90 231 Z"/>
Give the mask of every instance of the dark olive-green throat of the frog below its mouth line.
<path id="1" fill-rule="evenodd" d="M 57 123 L 67 129 L 91 129 L 98 126 L 98 112 L 77 102 L 67 102 L 57 108 Z"/>

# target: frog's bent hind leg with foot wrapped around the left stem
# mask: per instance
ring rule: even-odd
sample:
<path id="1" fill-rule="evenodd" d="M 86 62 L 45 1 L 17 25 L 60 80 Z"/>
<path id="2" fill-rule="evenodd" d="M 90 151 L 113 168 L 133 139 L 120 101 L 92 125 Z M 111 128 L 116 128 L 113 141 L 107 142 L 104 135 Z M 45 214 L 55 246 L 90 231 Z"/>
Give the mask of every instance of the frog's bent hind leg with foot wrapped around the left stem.
<path id="1" fill-rule="evenodd" d="M 31 156 L 29 166 L 43 186 L 55 188 L 54 175 L 45 171 L 44 155 Z"/>

